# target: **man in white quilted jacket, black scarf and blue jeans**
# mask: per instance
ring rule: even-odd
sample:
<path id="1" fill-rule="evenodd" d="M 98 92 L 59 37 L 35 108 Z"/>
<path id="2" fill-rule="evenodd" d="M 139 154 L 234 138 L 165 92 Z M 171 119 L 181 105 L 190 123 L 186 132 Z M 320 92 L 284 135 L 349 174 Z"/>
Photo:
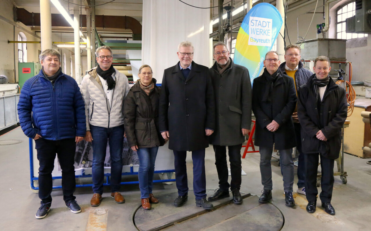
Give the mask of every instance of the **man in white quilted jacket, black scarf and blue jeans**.
<path id="1" fill-rule="evenodd" d="M 85 140 L 93 147 L 93 197 L 91 206 L 102 201 L 104 160 L 107 141 L 111 158 L 111 197 L 124 203 L 119 193 L 122 173 L 122 144 L 124 142 L 123 102 L 129 92 L 128 78 L 112 66 L 112 50 L 108 46 L 95 51 L 98 66 L 84 76 L 81 94 L 85 101 Z"/>

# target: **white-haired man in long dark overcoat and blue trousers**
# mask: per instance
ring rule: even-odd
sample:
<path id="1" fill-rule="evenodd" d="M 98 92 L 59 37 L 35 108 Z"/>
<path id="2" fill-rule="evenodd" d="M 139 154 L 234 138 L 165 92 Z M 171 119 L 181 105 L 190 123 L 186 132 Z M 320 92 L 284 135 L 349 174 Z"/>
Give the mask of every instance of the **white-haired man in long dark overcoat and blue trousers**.
<path id="1" fill-rule="evenodd" d="M 193 62 L 193 45 L 182 42 L 178 46 L 179 62 L 164 70 L 162 77 L 159 127 L 162 137 L 169 139 L 174 151 L 175 181 L 178 197 L 175 207 L 188 198 L 187 151 L 192 152 L 193 191 L 196 206 L 213 208 L 206 200 L 205 148 L 215 127 L 214 91 L 209 68 Z"/>

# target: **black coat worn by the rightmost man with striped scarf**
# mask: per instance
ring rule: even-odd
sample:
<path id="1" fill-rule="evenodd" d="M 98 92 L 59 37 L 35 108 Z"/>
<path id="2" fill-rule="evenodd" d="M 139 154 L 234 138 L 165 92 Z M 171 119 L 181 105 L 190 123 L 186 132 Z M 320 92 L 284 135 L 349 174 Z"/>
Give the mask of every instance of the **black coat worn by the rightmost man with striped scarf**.
<path id="1" fill-rule="evenodd" d="M 339 157 L 341 129 L 348 111 L 345 90 L 330 78 L 319 105 L 313 91 L 314 77 L 315 74 L 299 90 L 298 116 L 302 126 L 302 151 L 305 154 L 321 153 L 326 158 L 336 159 Z M 317 139 L 316 133 L 319 130 L 327 141 Z"/>

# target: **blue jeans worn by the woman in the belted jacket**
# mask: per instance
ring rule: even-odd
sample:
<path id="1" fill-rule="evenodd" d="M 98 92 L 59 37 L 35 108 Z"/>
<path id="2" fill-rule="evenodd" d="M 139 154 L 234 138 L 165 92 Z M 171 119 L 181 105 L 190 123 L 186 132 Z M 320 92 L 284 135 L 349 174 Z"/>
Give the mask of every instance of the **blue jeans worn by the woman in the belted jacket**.
<path id="1" fill-rule="evenodd" d="M 137 154 L 139 158 L 139 189 L 140 198 L 150 197 L 153 185 L 153 173 L 155 171 L 155 161 L 158 147 L 138 148 Z"/>

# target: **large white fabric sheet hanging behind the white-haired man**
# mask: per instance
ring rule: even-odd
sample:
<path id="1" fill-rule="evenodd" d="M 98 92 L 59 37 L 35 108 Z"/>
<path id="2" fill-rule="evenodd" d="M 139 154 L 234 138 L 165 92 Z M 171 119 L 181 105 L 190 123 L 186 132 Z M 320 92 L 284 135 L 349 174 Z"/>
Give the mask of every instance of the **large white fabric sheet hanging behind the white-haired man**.
<path id="1" fill-rule="evenodd" d="M 210 7 L 210 0 L 184 2 Z M 179 61 L 178 44 L 188 40 L 194 46 L 193 61 L 209 66 L 209 27 L 210 9 L 178 0 L 143 0 L 142 64 L 150 65 L 153 77 L 161 83 L 164 69 Z"/>

